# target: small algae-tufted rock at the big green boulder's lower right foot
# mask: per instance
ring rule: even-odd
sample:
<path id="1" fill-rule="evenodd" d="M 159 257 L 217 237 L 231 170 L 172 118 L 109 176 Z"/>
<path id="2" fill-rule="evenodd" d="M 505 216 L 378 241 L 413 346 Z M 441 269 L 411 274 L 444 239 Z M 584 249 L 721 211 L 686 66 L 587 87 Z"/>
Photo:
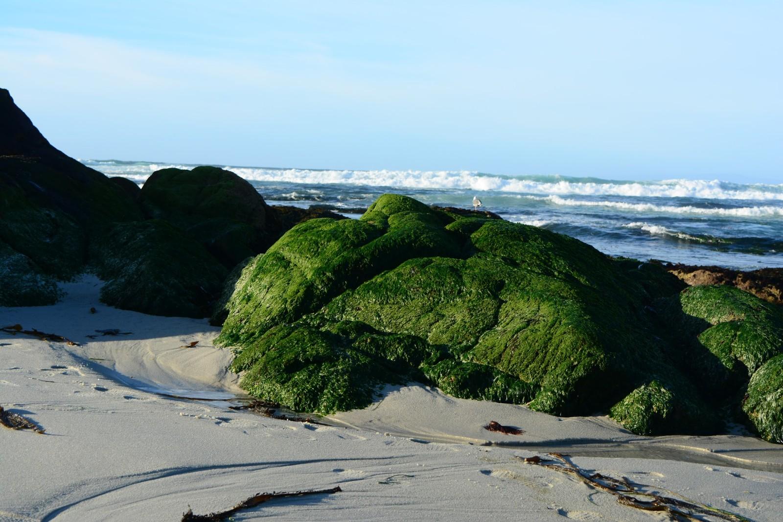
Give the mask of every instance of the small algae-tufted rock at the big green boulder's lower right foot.
<path id="1" fill-rule="evenodd" d="M 705 434 L 719 429 L 714 412 L 682 389 L 652 380 L 612 406 L 610 415 L 640 435 Z"/>

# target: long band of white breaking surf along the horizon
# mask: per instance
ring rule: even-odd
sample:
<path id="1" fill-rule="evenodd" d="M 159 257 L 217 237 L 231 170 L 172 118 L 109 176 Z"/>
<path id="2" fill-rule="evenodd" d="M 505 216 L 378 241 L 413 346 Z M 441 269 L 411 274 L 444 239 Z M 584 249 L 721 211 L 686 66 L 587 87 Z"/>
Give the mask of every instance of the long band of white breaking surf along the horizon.
<path id="1" fill-rule="evenodd" d="M 107 175 L 148 178 L 161 168 L 195 165 L 82 160 Z M 300 168 L 231 167 L 229 171 L 254 181 L 307 184 L 347 184 L 413 189 L 469 189 L 480 192 L 547 196 L 690 197 L 713 200 L 783 201 L 783 185 L 739 185 L 719 180 L 669 179 L 662 182 L 580 181 L 548 176 L 538 178 L 485 175 L 475 171 L 352 171 Z"/>

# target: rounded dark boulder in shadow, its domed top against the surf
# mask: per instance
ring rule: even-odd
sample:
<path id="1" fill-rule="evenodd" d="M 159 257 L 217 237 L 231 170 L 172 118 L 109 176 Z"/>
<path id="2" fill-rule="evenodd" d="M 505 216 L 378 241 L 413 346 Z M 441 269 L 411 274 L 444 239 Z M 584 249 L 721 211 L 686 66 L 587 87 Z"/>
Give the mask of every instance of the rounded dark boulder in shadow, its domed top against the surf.
<path id="1" fill-rule="evenodd" d="M 226 268 L 266 250 L 280 235 L 280 224 L 261 194 L 218 167 L 156 171 L 144 183 L 139 200 L 150 218 L 185 230 Z"/>

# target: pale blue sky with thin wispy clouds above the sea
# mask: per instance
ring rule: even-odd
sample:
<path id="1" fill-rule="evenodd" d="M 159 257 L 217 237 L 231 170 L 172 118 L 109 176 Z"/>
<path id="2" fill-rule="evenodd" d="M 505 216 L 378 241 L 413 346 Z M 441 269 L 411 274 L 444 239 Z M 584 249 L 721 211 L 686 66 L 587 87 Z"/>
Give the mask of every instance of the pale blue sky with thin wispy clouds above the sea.
<path id="1" fill-rule="evenodd" d="M 752 1 L 2 0 L 0 87 L 79 158 L 783 183 L 781 20 Z"/>

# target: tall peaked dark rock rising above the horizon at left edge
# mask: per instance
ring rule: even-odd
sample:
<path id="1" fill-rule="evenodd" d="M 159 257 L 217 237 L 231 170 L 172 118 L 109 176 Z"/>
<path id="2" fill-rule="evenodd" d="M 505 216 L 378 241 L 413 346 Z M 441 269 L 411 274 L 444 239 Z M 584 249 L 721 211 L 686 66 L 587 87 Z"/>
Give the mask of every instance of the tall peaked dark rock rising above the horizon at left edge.
<path id="1" fill-rule="evenodd" d="M 0 121 L 0 240 L 45 274 L 81 272 L 90 238 L 114 221 L 141 218 L 139 207 L 105 175 L 55 149 L 5 89 Z"/>

